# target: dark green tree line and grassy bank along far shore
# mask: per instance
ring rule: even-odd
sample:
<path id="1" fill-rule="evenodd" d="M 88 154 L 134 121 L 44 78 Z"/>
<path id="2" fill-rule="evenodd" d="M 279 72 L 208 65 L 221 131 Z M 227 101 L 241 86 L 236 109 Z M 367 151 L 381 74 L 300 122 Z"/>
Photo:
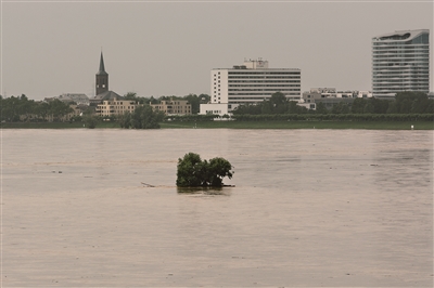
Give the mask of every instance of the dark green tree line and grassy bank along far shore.
<path id="1" fill-rule="evenodd" d="M 400 92 L 395 100 L 355 99 L 352 105 L 342 102 L 328 109 L 319 103 L 316 110 L 296 105 L 280 93 L 254 105 L 239 106 L 232 115 L 200 115 L 199 96 L 186 97 L 194 104 L 191 115 L 165 115 L 148 105 L 148 99 L 133 93 L 125 95 L 142 103 L 133 112 L 111 117 L 99 117 L 92 109 L 81 116 L 62 121 L 69 106 L 61 101 L 35 102 L 25 95 L 0 97 L 1 128 L 66 129 L 66 128 L 124 128 L 124 129 L 423 129 L 434 128 L 434 100 L 421 92 Z M 165 97 L 162 97 L 163 100 Z M 152 101 L 158 101 L 152 99 Z M 33 117 L 28 117 L 31 115 Z M 49 117 L 50 116 L 50 117 Z"/>

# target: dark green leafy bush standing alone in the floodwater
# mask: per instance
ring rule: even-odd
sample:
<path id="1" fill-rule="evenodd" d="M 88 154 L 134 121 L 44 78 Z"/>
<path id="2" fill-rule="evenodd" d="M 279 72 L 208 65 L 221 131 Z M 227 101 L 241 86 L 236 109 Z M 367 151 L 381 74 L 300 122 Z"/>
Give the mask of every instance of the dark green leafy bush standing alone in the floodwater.
<path id="1" fill-rule="evenodd" d="M 195 153 L 188 153 L 178 159 L 176 184 L 179 187 L 221 187 L 222 179 L 232 178 L 232 165 L 221 157 L 202 160 Z"/>

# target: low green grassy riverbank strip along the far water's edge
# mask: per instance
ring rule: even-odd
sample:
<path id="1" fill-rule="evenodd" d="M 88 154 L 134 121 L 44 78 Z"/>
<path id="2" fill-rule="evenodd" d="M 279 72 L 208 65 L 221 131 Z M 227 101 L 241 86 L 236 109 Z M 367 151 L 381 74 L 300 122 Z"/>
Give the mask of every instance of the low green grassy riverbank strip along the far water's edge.
<path id="1" fill-rule="evenodd" d="M 432 121 L 186 121 L 162 122 L 162 129 L 367 129 L 367 130 L 434 130 Z M 1 129 L 78 129 L 81 122 L 14 122 Z M 97 129 L 120 128 L 117 122 L 99 122 Z"/>

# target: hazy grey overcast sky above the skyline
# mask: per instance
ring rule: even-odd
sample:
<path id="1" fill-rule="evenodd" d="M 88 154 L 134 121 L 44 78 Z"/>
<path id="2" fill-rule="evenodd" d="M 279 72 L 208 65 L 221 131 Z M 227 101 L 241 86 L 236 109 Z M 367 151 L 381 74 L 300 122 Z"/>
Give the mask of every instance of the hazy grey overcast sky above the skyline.
<path id="1" fill-rule="evenodd" d="M 432 1 L 1 1 L 1 16 L 0 93 L 35 100 L 93 96 L 101 49 L 120 95 L 209 94 L 212 68 L 257 57 L 299 68 L 302 91 L 371 90 L 372 37 L 433 39 Z"/>

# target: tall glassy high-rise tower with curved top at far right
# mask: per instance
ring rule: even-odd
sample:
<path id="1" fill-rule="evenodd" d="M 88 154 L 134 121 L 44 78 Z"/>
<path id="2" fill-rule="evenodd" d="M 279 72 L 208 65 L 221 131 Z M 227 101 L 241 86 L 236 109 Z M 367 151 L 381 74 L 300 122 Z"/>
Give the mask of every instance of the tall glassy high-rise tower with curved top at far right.
<path id="1" fill-rule="evenodd" d="M 430 30 L 404 30 L 372 38 L 372 95 L 430 91 Z"/>

